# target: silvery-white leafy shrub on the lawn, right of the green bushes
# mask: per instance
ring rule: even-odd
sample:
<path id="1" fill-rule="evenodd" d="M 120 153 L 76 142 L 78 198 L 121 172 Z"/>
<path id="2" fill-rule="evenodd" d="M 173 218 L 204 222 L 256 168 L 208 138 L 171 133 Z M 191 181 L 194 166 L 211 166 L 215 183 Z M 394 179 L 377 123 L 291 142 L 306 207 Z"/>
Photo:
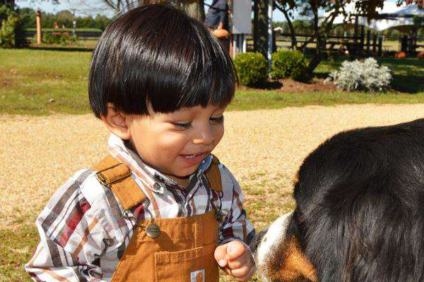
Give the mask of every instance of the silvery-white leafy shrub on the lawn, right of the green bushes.
<path id="1" fill-rule="evenodd" d="M 325 82 L 334 80 L 338 89 L 347 91 L 384 91 L 389 87 L 391 74 L 387 66 L 379 66 L 373 58 L 361 62 L 343 61 L 340 71 L 330 73 Z"/>

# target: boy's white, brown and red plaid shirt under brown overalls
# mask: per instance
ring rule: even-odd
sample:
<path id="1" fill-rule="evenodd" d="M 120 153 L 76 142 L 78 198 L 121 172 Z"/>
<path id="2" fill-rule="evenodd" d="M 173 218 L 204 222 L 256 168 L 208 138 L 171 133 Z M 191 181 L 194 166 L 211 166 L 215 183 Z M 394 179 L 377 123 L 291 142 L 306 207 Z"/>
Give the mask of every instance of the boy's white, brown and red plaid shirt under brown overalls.
<path id="1" fill-rule="evenodd" d="M 151 200 L 132 210 L 129 219 L 112 191 L 95 178 L 95 171 L 75 173 L 54 193 L 37 218 L 40 243 L 25 271 L 34 281 L 110 281 L 129 244 L 136 221 L 177 218 L 204 214 L 213 208 L 222 212 L 220 243 L 229 240 L 249 242 L 254 228 L 246 220 L 240 185 L 228 168 L 219 165 L 223 191 L 204 185 L 204 174 L 211 164 L 206 157 L 190 176 L 187 188 L 146 166 L 119 137 L 110 135 L 109 152 L 129 166 L 136 183 Z"/>

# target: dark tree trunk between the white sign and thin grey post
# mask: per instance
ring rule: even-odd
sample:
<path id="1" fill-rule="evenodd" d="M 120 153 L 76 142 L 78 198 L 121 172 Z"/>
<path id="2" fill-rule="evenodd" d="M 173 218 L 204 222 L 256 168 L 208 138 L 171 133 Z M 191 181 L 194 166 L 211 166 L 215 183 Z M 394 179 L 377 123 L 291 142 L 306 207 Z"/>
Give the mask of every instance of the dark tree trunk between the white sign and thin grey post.
<path id="1" fill-rule="evenodd" d="M 254 0 L 254 51 L 266 58 L 268 52 L 268 1 Z"/>

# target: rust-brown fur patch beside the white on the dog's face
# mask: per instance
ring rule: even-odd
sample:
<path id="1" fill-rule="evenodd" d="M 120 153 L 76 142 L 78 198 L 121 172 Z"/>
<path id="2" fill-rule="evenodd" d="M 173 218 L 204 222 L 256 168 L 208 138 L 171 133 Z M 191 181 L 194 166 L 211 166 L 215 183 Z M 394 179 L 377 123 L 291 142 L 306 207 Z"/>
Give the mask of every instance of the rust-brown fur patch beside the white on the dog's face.
<path id="1" fill-rule="evenodd" d="M 308 281 L 317 282 L 314 266 L 302 252 L 298 239 L 294 235 L 285 240 L 284 263 L 272 281 Z"/>

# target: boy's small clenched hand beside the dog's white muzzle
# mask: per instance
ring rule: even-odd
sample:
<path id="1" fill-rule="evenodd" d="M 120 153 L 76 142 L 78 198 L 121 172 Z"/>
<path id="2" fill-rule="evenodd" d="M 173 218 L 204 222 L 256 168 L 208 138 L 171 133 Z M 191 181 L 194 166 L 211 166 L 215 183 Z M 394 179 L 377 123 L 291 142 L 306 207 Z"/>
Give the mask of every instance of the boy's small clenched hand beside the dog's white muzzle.
<path id="1" fill-rule="evenodd" d="M 254 274 L 252 252 L 240 241 L 219 245 L 215 250 L 215 259 L 221 269 L 238 281 L 247 281 Z"/>

